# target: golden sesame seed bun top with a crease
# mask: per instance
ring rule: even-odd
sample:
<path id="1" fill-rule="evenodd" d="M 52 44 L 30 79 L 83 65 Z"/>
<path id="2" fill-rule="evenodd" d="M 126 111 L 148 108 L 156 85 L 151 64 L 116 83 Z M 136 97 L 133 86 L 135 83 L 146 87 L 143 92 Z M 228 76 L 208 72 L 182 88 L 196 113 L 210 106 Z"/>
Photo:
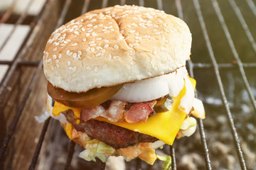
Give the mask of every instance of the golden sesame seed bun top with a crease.
<path id="1" fill-rule="evenodd" d="M 43 70 L 53 86 L 82 92 L 174 72 L 190 52 L 191 33 L 181 19 L 153 8 L 114 6 L 55 30 Z"/>

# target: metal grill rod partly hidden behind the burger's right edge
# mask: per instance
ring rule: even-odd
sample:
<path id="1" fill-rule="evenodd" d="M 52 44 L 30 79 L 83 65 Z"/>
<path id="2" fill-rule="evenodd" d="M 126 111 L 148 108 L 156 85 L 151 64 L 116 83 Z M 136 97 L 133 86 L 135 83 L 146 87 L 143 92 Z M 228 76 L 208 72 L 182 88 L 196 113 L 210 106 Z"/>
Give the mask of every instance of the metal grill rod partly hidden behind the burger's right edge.
<path id="1" fill-rule="evenodd" d="M 176 8 L 178 10 L 178 17 L 183 19 L 183 12 L 182 12 L 182 6 L 181 6 L 181 1 L 180 0 L 176 0 Z M 193 75 L 193 62 L 190 60 L 188 62 L 188 67 L 189 67 L 189 74 L 191 77 L 194 77 Z M 195 92 L 195 96 L 197 97 L 197 93 Z M 204 157 L 206 160 L 206 168 L 207 169 L 211 169 L 211 165 L 210 165 L 210 156 L 209 156 L 209 152 L 208 152 L 208 147 L 207 147 L 207 143 L 206 143 L 206 134 L 203 128 L 203 120 L 199 119 L 199 132 L 201 135 L 201 143 L 203 144 L 203 151 L 204 151 Z"/>

